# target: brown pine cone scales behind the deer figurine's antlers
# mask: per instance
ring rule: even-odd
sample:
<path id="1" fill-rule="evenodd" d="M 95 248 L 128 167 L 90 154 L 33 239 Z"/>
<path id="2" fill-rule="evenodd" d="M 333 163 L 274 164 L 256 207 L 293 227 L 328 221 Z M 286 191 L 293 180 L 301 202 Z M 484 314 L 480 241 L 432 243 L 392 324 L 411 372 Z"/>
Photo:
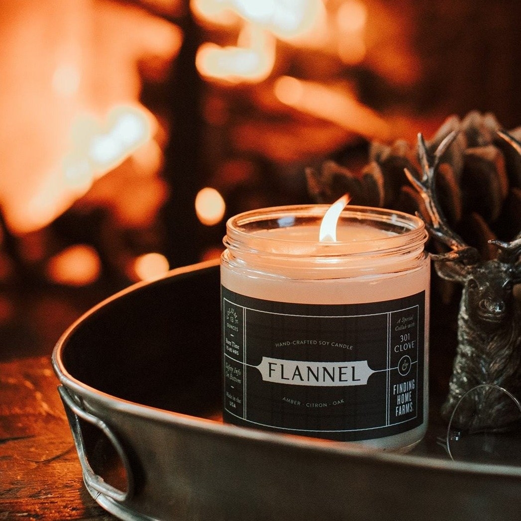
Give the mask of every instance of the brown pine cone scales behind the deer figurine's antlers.
<path id="1" fill-rule="evenodd" d="M 453 130 L 459 133 L 437 172 L 438 200 L 450 227 L 475 246 L 483 259 L 490 259 L 495 247 L 489 239 L 510 241 L 521 229 L 521 157 L 497 135 L 501 125 L 495 117 L 476 111 L 463 120 L 446 119 L 428 143 L 429 150 L 435 150 Z M 521 139 L 521 127 L 510 133 Z M 319 203 L 330 204 L 349 192 L 353 205 L 425 216 L 423 200 L 405 177 L 404 168 L 419 176 L 416 144 L 373 142 L 368 163 L 360 171 L 326 160 L 319 171 L 306 170 L 307 187 Z M 430 241 L 428 248 L 437 251 L 439 245 Z M 444 295 L 445 301 L 448 298 Z"/>

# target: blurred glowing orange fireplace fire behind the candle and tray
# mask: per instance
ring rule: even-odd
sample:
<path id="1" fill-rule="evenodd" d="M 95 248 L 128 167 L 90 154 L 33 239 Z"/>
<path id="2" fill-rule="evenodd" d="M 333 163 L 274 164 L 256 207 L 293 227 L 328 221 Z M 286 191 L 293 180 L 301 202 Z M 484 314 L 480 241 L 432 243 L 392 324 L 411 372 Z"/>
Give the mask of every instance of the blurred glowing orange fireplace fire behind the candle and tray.
<path id="1" fill-rule="evenodd" d="M 450 115 L 521 124 L 518 0 L 3 0 L 0 358 L 219 256 L 304 169 Z"/>

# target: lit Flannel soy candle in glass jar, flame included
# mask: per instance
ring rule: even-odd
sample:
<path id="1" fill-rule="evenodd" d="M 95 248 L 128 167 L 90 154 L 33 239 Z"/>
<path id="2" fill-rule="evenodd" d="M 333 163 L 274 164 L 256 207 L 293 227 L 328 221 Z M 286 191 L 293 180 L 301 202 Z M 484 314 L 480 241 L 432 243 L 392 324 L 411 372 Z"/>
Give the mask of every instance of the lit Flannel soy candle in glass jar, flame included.
<path id="1" fill-rule="evenodd" d="M 224 419 L 407 450 L 427 430 L 427 233 L 417 217 L 345 203 L 326 218 L 308 205 L 228 221 Z"/>

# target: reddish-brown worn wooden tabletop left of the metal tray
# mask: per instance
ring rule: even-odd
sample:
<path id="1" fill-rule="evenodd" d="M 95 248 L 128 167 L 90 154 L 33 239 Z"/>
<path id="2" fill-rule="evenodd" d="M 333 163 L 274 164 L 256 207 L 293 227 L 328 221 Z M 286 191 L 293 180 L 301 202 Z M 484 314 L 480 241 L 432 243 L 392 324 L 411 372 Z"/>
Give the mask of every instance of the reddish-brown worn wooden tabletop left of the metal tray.
<path id="1" fill-rule="evenodd" d="M 83 486 L 50 356 L 0 363 L 0 520 L 116 519 Z"/>

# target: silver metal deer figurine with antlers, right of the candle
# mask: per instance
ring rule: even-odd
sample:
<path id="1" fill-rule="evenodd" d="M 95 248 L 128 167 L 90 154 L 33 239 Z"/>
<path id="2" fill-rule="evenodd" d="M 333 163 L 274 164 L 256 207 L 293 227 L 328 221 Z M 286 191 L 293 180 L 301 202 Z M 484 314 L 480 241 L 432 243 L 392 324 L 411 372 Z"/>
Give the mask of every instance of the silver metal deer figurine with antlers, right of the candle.
<path id="1" fill-rule="evenodd" d="M 498 133 L 521 154 L 519 142 L 506 132 Z M 405 169 L 425 203 L 428 215 L 424 220 L 431 236 L 449 249 L 431 256 L 438 275 L 463 284 L 456 356 L 441 414 L 462 430 L 507 430 L 521 419 L 508 395 L 521 399 L 521 309 L 513 294 L 514 285 L 521 282 L 521 232 L 511 242 L 489 241 L 498 253 L 492 260 L 483 260 L 477 249 L 465 244 L 446 224 L 436 196 L 435 175 L 456 134 L 446 136 L 433 153 L 418 134 L 421 174 L 414 176 Z M 499 392 L 498 387 L 508 393 Z"/>

